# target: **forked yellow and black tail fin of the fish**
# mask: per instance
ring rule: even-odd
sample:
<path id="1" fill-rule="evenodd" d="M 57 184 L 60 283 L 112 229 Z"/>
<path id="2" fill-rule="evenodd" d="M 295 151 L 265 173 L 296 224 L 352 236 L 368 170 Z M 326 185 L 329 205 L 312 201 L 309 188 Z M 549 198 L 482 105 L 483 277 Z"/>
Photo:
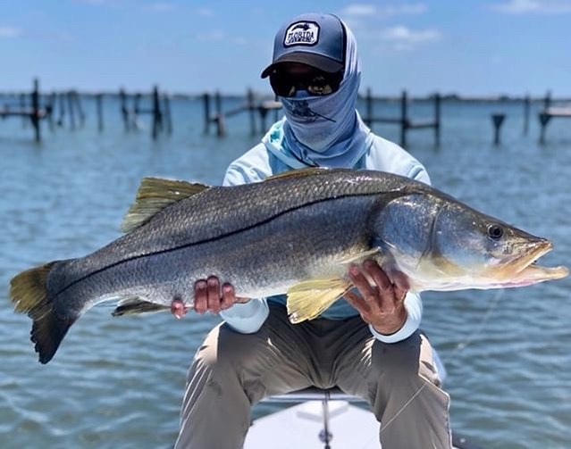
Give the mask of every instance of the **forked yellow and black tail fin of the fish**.
<path id="1" fill-rule="evenodd" d="M 60 317 L 53 299 L 47 293 L 47 277 L 56 262 L 22 271 L 10 281 L 10 298 L 14 311 L 28 313 L 33 324 L 30 340 L 35 344 L 39 362 L 46 364 L 54 357 L 57 348 L 71 325 L 79 318 Z"/>

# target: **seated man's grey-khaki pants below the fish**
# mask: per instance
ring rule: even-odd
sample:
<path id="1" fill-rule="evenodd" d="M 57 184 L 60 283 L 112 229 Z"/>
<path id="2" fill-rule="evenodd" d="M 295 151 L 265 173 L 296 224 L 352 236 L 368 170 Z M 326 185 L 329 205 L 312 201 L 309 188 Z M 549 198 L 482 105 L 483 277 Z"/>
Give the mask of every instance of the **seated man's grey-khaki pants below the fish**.
<path id="1" fill-rule="evenodd" d="M 206 337 L 189 370 L 175 448 L 239 449 L 252 404 L 337 386 L 371 405 L 383 449 L 448 449 L 449 395 L 439 385 L 432 347 L 419 332 L 383 344 L 360 317 L 292 325 L 273 304 L 255 334 L 221 324 Z"/>

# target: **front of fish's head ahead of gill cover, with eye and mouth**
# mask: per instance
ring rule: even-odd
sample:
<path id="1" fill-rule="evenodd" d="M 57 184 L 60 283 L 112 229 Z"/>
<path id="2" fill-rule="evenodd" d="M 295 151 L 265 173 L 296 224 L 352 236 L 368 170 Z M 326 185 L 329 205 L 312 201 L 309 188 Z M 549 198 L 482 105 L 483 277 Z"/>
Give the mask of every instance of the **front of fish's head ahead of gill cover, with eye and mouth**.
<path id="1" fill-rule="evenodd" d="M 458 202 L 442 202 L 429 241 L 421 271 L 449 279 L 454 289 L 524 287 L 568 274 L 536 263 L 553 249 L 549 239 Z"/>

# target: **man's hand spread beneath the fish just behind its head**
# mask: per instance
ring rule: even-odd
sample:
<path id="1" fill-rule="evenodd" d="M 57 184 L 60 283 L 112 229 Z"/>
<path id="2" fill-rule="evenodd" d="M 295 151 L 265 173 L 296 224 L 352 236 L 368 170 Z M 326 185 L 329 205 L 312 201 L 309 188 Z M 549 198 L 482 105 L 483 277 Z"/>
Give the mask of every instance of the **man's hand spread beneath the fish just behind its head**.
<path id="1" fill-rule="evenodd" d="M 395 273 L 393 284 L 379 264 L 369 260 L 361 267 L 351 266 L 348 276 L 360 295 L 348 292 L 345 298 L 366 323 L 383 335 L 394 334 L 402 328 L 407 320 L 404 302 L 409 288 L 405 274 Z M 373 280 L 374 286 L 368 279 Z"/>

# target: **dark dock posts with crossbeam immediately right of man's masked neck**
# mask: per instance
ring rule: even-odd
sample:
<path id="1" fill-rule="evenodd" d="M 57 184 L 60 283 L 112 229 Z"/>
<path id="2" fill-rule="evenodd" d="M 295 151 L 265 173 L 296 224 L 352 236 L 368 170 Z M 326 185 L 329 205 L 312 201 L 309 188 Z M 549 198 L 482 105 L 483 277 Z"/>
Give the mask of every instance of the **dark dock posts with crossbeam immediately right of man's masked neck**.
<path id="1" fill-rule="evenodd" d="M 363 121 L 368 127 L 374 123 L 391 123 L 400 126 L 400 146 L 407 146 L 407 132 L 412 129 L 433 129 L 434 145 L 439 146 L 441 142 L 441 96 L 434 94 L 433 118 L 429 121 L 411 121 L 408 118 L 408 96 L 403 90 L 400 96 L 400 115 L 397 117 L 374 116 L 373 104 L 378 98 L 374 98 L 371 88 L 367 88 L 365 96 L 365 116 Z"/>

